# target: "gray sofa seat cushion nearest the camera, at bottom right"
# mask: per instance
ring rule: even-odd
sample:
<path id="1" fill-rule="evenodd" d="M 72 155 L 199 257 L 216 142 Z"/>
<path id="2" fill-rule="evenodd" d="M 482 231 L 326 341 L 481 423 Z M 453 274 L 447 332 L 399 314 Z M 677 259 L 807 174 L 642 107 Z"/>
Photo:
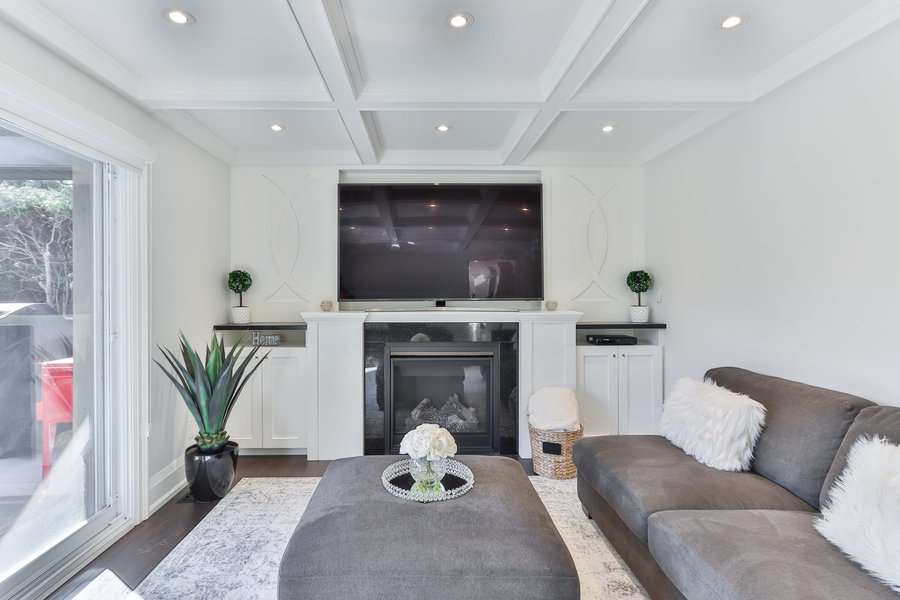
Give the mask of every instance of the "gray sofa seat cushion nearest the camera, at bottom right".
<path id="1" fill-rule="evenodd" d="M 897 600 L 813 528 L 815 514 L 671 511 L 650 517 L 650 552 L 691 600 Z"/>

